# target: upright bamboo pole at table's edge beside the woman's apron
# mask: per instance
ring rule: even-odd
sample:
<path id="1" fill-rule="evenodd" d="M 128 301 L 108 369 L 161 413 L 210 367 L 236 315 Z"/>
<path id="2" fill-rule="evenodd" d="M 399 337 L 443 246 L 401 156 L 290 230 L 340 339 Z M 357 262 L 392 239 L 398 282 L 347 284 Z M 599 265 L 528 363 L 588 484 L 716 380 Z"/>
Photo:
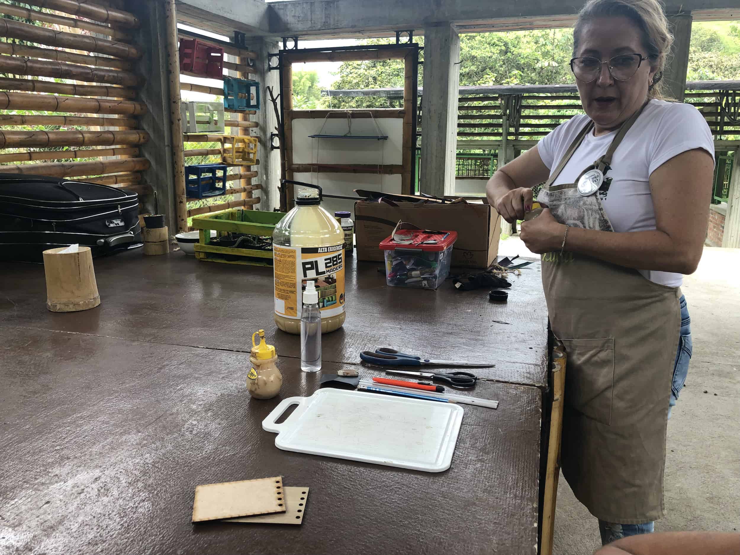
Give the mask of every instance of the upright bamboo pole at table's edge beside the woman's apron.
<path id="1" fill-rule="evenodd" d="M 558 342 L 559 343 L 559 342 Z M 545 499 L 542 503 L 542 555 L 552 555 L 557 502 L 557 482 L 560 474 L 560 439 L 562 437 L 562 409 L 565 395 L 566 353 L 562 345 L 553 347 L 553 401 L 550 412 L 550 439 L 548 462 L 545 467 Z"/>

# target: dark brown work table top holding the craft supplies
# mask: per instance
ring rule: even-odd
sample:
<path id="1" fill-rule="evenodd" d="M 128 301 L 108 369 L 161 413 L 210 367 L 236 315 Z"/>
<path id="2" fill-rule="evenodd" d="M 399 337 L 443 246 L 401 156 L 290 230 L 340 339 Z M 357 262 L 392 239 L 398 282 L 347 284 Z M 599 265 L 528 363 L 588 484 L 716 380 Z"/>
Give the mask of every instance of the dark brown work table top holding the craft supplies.
<path id="1" fill-rule="evenodd" d="M 359 266 L 345 328 L 325 336 L 324 371 L 379 375 L 357 365 L 375 346 L 497 363 L 475 370 L 486 380 L 474 394 L 499 408 L 463 406 L 448 471 L 275 448 L 263 418 L 282 398 L 312 394 L 319 376 L 300 371 L 297 337 L 275 331 L 270 269 L 128 252 L 95 260 L 101 306 L 53 314 L 43 267 L 5 264 L 0 551 L 534 553 L 546 383 L 538 269 L 494 306 L 485 289 L 390 288 L 379 263 Z M 246 392 L 259 327 L 284 377 L 266 401 Z M 311 488 L 302 525 L 191 524 L 196 485 L 277 474 Z"/>

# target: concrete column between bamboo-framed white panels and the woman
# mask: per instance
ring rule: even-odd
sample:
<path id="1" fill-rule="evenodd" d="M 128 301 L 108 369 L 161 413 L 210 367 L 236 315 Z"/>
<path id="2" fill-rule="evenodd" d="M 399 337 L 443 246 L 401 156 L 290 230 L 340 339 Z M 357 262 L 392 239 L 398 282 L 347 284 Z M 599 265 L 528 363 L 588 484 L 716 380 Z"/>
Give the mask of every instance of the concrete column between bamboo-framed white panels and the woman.
<path id="1" fill-rule="evenodd" d="M 460 37 L 451 24 L 424 27 L 420 192 L 453 195 Z"/>

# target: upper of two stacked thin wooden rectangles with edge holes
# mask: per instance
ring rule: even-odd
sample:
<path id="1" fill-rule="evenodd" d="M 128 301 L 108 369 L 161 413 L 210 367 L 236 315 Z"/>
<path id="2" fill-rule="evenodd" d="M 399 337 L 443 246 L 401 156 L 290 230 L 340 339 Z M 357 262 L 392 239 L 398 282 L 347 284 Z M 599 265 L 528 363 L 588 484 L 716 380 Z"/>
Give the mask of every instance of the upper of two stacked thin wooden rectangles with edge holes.
<path id="1" fill-rule="evenodd" d="M 192 504 L 192 522 L 284 513 L 283 477 L 198 485 Z"/>

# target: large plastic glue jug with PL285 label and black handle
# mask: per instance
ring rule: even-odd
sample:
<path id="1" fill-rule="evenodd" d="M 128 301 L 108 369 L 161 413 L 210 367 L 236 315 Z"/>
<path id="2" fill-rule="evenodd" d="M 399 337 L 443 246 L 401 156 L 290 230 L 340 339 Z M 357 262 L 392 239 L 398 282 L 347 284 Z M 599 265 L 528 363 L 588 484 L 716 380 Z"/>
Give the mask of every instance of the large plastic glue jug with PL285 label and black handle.
<path id="1" fill-rule="evenodd" d="M 297 186 L 295 208 L 272 232 L 275 269 L 275 323 L 283 332 L 300 334 L 303 291 L 313 280 L 319 294 L 321 332 L 344 323 L 344 232 L 321 208 L 321 187 L 283 180 Z M 314 189 L 314 190 L 307 190 Z"/>

